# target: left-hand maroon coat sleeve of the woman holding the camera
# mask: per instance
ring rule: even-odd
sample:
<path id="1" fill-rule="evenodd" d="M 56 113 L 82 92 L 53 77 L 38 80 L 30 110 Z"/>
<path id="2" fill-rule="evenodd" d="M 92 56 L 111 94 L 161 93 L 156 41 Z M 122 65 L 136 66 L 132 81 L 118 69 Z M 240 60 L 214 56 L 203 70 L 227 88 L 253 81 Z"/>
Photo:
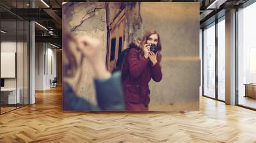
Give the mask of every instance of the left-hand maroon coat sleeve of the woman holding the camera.
<path id="1" fill-rule="evenodd" d="M 146 59 L 144 56 L 139 58 L 139 54 L 136 49 L 131 49 L 127 57 L 127 62 L 129 64 L 129 72 L 132 77 L 139 77 L 146 68 L 148 61 L 149 59 Z"/>

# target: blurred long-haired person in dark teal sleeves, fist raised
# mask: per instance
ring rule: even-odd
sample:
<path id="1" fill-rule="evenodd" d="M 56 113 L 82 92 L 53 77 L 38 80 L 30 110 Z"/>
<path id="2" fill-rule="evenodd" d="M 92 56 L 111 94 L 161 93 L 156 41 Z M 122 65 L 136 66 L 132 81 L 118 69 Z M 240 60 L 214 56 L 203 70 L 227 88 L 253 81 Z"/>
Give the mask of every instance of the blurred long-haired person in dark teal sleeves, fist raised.
<path id="1" fill-rule="evenodd" d="M 63 22 L 63 110 L 87 110 L 87 111 L 116 111 L 124 110 L 124 100 L 122 94 L 120 73 L 111 75 L 106 70 L 102 59 L 102 42 L 92 36 L 82 35 L 74 38 L 67 30 L 67 23 Z M 76 52 L 81 53 L 81 61 L 77 61 L 74 50 L 70 49 L 70 41 L 76 45 Z M 65 79 L 73 78 L 75 73 L 83 65 L 83 61 L 88 60 L 95 73 L 95 90 L 98 106 L 92 105 L 84 98 L 77 96 L 74 89 L 65 82 Z M 79 80 L 81 75 L 79 75 Z M 80 81 L 78 80 L 77 83 Z M 67 80 L 66 80 L 67 81 Z"/>

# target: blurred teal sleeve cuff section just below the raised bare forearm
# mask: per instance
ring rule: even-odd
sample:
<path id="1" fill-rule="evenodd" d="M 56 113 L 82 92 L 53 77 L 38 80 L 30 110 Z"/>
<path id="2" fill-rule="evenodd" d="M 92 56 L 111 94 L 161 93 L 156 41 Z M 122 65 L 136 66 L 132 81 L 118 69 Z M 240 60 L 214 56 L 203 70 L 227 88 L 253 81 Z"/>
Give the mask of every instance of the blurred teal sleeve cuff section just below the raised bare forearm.
<path id="1" fill-rule="evenodd" d="M 95 79 L 97 101 L 102 110 L 124 110 L 120 72 L 109 79 Z"/>

